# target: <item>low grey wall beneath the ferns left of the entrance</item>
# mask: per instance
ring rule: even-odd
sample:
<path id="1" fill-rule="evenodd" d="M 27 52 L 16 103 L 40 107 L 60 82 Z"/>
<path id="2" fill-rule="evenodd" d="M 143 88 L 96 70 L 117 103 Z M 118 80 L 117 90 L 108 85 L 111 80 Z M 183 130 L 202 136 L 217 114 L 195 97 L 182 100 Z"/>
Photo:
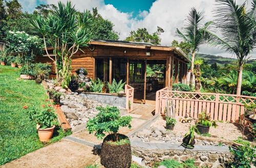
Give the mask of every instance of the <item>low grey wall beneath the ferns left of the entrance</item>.
<path id="1" fill-rule="evenodd" d="M 118 96 L 116 94 L 110 94 L 110 93 L 93 93 L 93 92 L 81 93 L 80 95 L 82 98 L 93 99 L 100 103 L 108 104 L 111 106 L 120 106 L 124 108 L 126 107 L 125 96 Z"/>

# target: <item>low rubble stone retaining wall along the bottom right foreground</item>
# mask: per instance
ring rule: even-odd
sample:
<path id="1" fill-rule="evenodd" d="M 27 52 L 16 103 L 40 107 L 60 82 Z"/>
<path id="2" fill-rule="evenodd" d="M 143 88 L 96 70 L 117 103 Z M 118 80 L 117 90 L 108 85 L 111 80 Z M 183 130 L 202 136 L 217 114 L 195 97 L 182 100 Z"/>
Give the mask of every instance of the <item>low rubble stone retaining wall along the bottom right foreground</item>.
<path id="1" fill-rule="evenodd" d="M 232 161 L 232 154 L 227 150 L 216 150 L 211 149 L 206 151 L 203 150 L 183 150 L 181 147 L 174 147 L 174 149 L 163 149 L 163 144 L 153 143 L 149 145 L 149 143 L 144 143 L 144 147 L 138 147 L 138 143 L 135 145 L 132 144 L 133 154 L 144 158 L 145 163 L 147 165 L 151 165 L 154 162 L 162 161 L 164 159 L 175 159 L 177 161 L 184 161 L 187 159 L 195 159 L 195 165 L 199 167 L 225 167 L 224 165 L 230 161 Z"/>

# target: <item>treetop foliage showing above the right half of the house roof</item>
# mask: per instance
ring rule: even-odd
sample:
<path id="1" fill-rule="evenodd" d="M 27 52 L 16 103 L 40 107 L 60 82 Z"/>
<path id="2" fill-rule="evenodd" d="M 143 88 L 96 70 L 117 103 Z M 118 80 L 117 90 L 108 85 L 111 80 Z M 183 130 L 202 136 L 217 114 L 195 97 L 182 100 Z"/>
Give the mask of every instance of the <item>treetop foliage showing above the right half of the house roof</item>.
<path id="1" fill-rule="evenodd" d="M 157 27 L 157 31 L 153 34 L 149 34 L 146 28 L 137 29 L 137 31 L 131 31 L 130 36 L 126 37 L 125 41 L 137 41 L 137 42 L 151 42 L 152 44 L 159 45 L 161 38 L 159 35 L 163 33 L 164 30 Z"/>

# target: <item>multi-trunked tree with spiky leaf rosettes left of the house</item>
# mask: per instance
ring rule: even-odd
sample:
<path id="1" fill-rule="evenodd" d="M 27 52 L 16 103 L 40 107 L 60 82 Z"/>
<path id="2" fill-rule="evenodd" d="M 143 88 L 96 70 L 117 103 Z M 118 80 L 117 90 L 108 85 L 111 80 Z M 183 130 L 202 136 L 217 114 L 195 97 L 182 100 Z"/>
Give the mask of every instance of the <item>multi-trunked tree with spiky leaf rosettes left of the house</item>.
<path id="1" fill-rule="evenodd" d="M 66 5 L 58 2 L 58 7 L 47 17 L 37 15 L 31 21 L 30 31 L 44 39 L 46 53 L 55 64 L 57 80 L 63 88 L 68 88 L 71 81 L 72 56 L 90 40 L 89 13 L 77 12 L 70 1 Z M 54 57 L 49 55 L 48 42 L 54 47 Z"/>

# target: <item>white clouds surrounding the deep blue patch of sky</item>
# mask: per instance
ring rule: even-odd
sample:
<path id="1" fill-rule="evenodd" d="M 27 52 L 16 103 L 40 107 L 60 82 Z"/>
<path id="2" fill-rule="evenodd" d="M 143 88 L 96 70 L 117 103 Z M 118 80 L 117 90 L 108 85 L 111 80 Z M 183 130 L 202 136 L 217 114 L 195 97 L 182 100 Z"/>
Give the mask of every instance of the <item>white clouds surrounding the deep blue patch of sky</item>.
<path id="1" fill-rule="evenodd" d="M 249 0 L 248 5 L 250 5 L 251 1 Z M 22 2 L 27 4 L 29 0 L 23 0 Z M 57 2 L 58 0 L 47 0 L 48 4 L 57 4 Z M 67 0 L 62 2 L 67 2 Z M 242 3 L 244 0 L 237 0 L 237 2 Z M 97 7 L 98 12 L 104 18 L 114 23 L 115 31 L 120 33 L 120 40 L 129 36 L 131 30 L 146 28 L 148 32 L 153 33 L 157 30 L 157 26 L 160 26 L 165 31 L 161 34 L 162 45 L 170 45 L 174 39 L 179 39 L 175 36 L 175 31 L 177 28 L 182 28 L 183 22 L 192 7 L 204 13 L 203 22 L 206 22 L 214 19 L 212 10 L 215 7 L 214 4 L 216 4 L 214 0 L 157 0 L 152 4 L 149 12 L 141 11 L 138 17 L 133 18 L 132 13 L 124 13 L 117 10 L 113 5 L 105 5 L 103 0 L 73 0 L 72 3 L 80 11 L 85 9 L 92 10 L 93 7 Z M 209 46 L 201 46 L 200 53 L 231 56 L 225 51 Z M 253 58 L 256 58 L 255 54 Z"/>

